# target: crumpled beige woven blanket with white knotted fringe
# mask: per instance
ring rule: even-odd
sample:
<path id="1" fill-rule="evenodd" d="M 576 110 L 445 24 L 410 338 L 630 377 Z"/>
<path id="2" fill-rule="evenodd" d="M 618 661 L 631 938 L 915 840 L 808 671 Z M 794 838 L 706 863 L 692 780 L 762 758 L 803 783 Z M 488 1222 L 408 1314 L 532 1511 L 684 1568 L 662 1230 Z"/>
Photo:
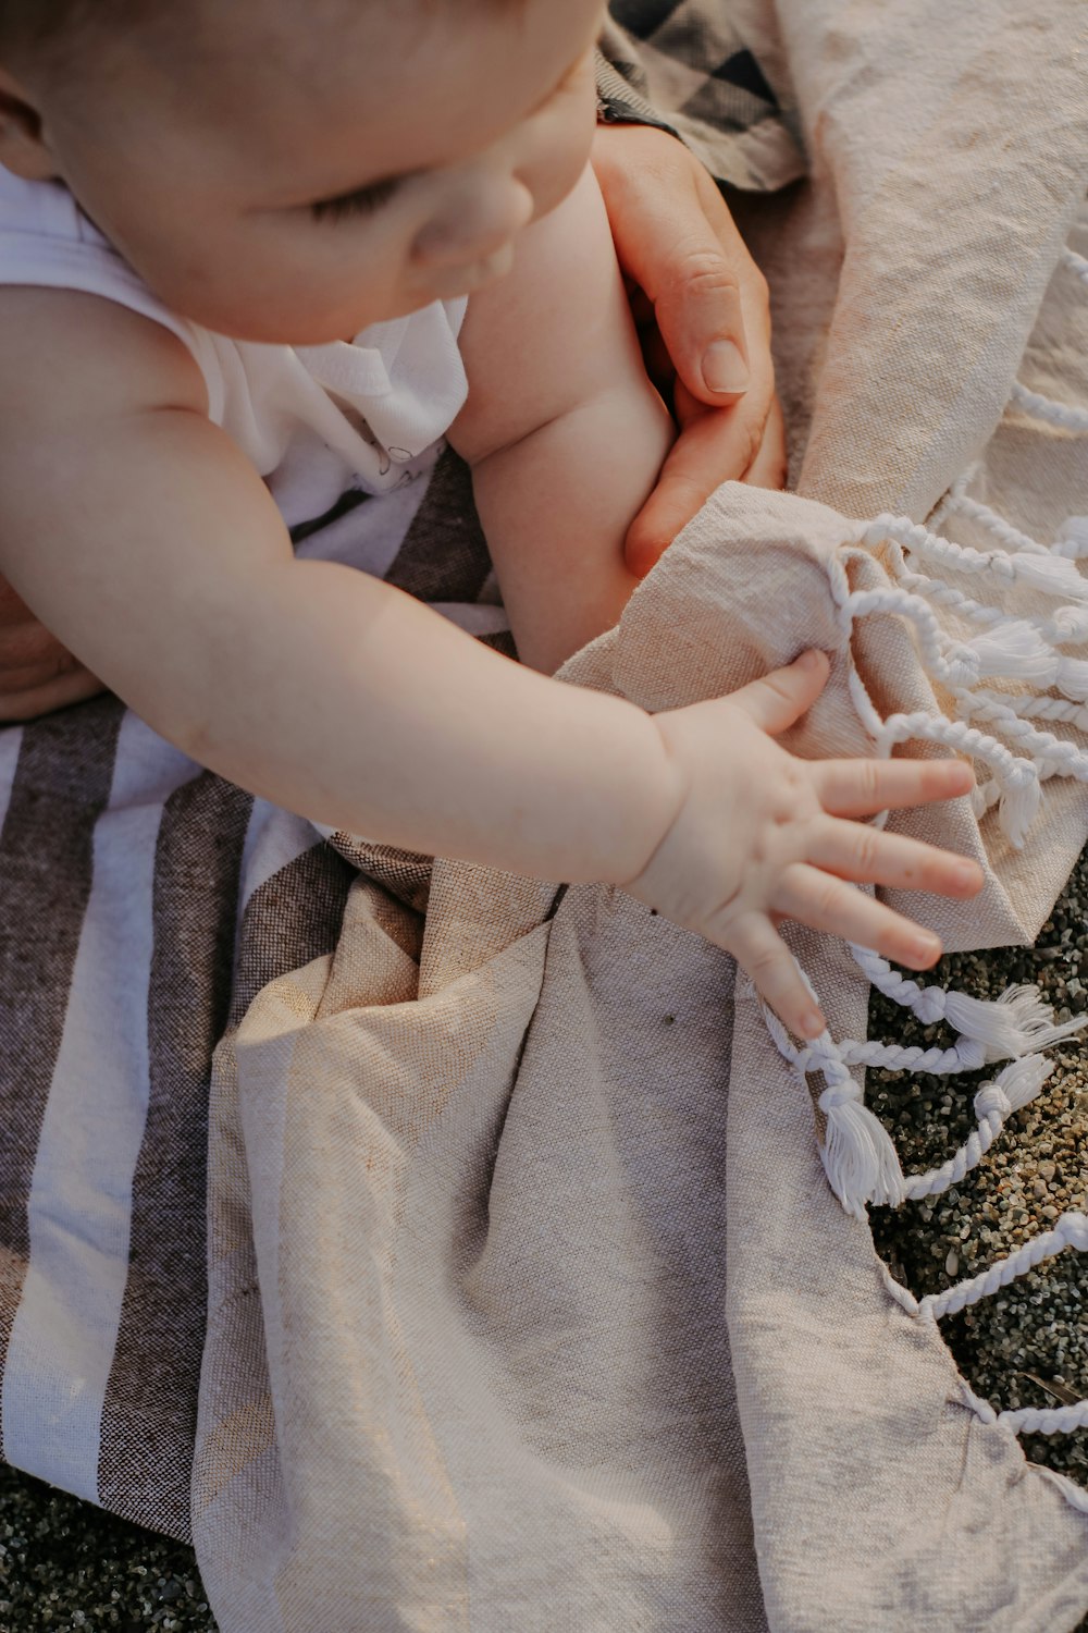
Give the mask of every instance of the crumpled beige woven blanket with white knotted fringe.
<path id="1" fill-rule="evenodd" d="M 977 813 L 904 826 L 988 887 L 912 906 L 1031 939 L 1088 833 L 1088 13 L 739 15 L 812 162 L 749 220 L 803 496 L 723 488 L 568 679 L 661 709 L 825 647 L 798 750 L 972 753 Z M 344 849 L 336 950 L 219 1053 L 194 1530 L 225 1633 L 1070 1630 L 1085 1501 L 882 1270 L 863 1204 L 904 1181 L 850 1071 L 874 978 L 993 1060 L 992 1132 L 1046 1070 L 1031 996 L 798 937 L 832 1030 L 791 1063 L 620 892 Z"/>

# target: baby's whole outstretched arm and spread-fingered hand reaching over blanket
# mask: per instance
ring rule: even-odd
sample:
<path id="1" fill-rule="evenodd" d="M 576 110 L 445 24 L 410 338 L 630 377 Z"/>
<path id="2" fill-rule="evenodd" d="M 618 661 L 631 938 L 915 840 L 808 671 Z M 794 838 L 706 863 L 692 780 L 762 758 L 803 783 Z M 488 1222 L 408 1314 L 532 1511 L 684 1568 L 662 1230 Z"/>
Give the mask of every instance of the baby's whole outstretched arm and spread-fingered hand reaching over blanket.
<path id="1" fill-rule="evenodd" d="M 623 885 L 734 952 L 806 1035 L 819 1012 L 778 918 L 920 968 L 936 937 L 842 880 L 979 888 L 971 862 L 838 820 L 961 794 L 964 764 L 807 764 L 773 743 L 825 658 L 657 717 L 561 686 L 365 573 L 295 560 L 155 323 L 5 289 L 0 354 L 0 573 L 158 732 L 254 794 L 378 841 Z"/>

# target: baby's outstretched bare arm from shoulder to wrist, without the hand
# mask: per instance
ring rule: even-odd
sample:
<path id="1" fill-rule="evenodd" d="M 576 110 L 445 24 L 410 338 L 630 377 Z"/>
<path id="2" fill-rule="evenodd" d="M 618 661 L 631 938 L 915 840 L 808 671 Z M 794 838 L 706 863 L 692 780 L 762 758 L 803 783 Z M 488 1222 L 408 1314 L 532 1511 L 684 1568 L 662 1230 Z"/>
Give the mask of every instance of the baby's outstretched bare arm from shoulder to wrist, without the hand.
<path id="1" fill-rule="evenodd" d="M 675 799 L 652 720 L 295 560 L 168 331 L 8 289 L 0 354 L 0 573 L 166 738 L 375 839 L 546 879 L 644 862 Z"/>

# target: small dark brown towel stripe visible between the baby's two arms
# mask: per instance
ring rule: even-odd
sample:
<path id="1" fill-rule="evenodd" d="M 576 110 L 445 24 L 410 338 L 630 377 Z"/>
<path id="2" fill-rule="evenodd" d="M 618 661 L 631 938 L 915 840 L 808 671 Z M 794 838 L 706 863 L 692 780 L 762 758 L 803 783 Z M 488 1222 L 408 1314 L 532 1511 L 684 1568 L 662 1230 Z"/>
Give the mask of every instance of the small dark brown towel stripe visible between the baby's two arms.
<path id="1" fill-rule="evenodd" d="M 385 580 L 421 601 L 476 601 L 489 572 L 468 465 L 445 449 Z"/>

